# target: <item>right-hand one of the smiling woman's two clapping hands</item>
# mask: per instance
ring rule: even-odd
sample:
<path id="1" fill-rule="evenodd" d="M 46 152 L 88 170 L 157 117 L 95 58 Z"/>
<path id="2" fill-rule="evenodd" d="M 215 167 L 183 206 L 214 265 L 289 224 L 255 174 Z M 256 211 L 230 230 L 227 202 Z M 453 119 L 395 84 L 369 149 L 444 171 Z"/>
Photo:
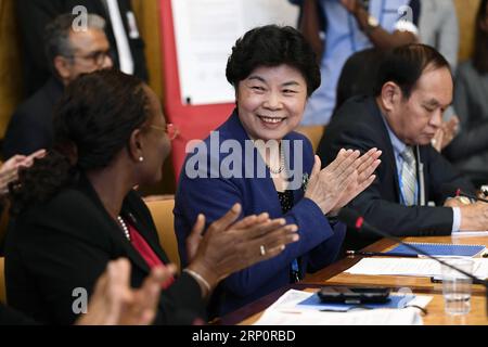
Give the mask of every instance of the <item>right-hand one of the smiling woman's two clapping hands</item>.
<path id="1" fill-rule="evenodd" d="M 373 183 L 374 179 L 376 178 L 373 172 L 382 163 L 382 160 L 378 159 L 381 155 L 382 151 L 378 151 L 377 149 L 371 149 L 365 154 L 356 159 L 357 162 L 359 162 L 358 168 L 354 174 L 356 176 L 356 179 L 352 180 L 352 182 L 344 191 L 339 201 L 331 210 L 332 214 L 337 214 L 341 208 L 346 206 L 352 198 L 358 196 L 362 191 L 370 187 L 371 183 Z"/>

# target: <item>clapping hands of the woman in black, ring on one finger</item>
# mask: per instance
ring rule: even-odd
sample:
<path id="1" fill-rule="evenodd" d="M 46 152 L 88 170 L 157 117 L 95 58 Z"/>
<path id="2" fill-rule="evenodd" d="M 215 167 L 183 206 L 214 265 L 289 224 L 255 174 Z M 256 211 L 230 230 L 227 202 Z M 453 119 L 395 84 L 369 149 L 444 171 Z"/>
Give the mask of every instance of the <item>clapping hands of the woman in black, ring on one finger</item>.
<path id="1" fill-rule="evenodd" d="M 205 217 L 198 216 L 189 236 L 190 243 L 197 245 L 192 246 L 194 255 L 189 255 L 188 269 L 205 279 L 210 288 L 233 272 L 279 255 L 285 245 L 299 239 L 297 226 L 286 226 L 283 218 L 271 220 L 266 213 L 235 222 L 241 209 L 241 205 L 235 204 L 213 222 L 205 234 Z M 191 245 L 187 243 L 187 246 Z M 201 287 L 204 296 L 208 295 L 205 285 L 201 283 Z"/>

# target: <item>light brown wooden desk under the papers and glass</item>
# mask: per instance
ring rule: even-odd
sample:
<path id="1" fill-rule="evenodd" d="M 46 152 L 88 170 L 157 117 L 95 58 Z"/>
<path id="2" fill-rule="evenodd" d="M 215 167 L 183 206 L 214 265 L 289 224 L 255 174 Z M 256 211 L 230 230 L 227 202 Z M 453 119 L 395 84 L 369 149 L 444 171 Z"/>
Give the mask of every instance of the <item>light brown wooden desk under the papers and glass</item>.
<path id="1" fill-rule="evenodd" d="M 483 244 L 488 247 L 488 235 L 480 234 L 462 236 L 435 236 L 435 237 L 404 237 L 406 242 L 428 242 L 428 243 L 451 243 L 451 244 Z M 397 244 L 389 240 L 381 240 L 363 250 L 386 252 Z M 419 277 L 396 277 L 396 275 L 358 275 L 345 273 L 344 271 L 352 267 L 361 256 L 346 257 L 333 265 L 307 275 L 301 282 L 282 287 L 261 299 L 252 303 L 232 313 L 229 313 L 219 321 L 219 324 L 253 324 L 262 314 L 262 311 L 273 304 L 282 294 L 290 288 L 317 291 L 322 285 L 348 285 L 348 286 L 388 286 L 394 291 L 408 287 L 414 294 L 433 296 L 433 300 L 426 307 L 427 313 L 422 314 L 426 325 L 488 325 L 486 312 L 486 294 L 481 285 L 473 285 L 472 309 L 465 316 L 450 316 L 444 311 L 442 284 L 432 283 L 431 279 Z"/>

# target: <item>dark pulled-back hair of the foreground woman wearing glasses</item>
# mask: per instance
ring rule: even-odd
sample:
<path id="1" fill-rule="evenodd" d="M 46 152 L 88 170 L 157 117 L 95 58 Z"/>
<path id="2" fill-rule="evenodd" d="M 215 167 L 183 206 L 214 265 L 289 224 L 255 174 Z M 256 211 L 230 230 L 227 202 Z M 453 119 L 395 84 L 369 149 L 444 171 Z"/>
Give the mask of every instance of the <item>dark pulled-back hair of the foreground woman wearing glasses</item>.
<path id="1" fill-rule="evenodd" d="M 11 214 L 47 202 L 77 174 L 106 167 L 150 117 L 143 82 L 114 69 L 82 75 L 57 104 L 54 149 L 10 185 Z"/>

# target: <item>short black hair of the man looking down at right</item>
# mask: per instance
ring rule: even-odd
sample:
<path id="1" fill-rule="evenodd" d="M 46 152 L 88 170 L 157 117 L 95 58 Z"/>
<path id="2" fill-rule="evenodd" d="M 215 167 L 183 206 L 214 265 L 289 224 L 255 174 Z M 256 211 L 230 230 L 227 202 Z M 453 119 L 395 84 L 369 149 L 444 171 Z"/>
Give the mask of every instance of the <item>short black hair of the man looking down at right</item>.
<path id="1" fill-rule="evenodd" d="M 374 83 L 374 95 L 380 95 L 383 86 L 391 81 L 400 87 L 403 98 L 409 99 L 426 68 L 442 67 L 451 70 L 442 54 L 429 46 L 411 43 L 397 47 L 386 54 L 380 65 Z"/>

